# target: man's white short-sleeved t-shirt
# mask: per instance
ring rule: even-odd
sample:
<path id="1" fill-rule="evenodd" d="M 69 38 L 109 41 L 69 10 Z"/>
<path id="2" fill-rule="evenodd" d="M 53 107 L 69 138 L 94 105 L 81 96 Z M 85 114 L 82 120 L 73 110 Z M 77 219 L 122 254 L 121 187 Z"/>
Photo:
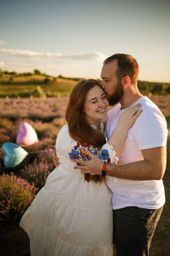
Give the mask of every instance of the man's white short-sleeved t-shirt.
<path id="1" fill-rule="evenodd" d="M 141 103 L 143 113 L 128 131 L 127 141 L 118 164 L 144 160 L 142 149 L 167 145 L 167 122 L 160 109 L 146 96 L 141 97 L 134 104 L 137 103 Z M 124 110 L 121 110 L 121 104 L 117 104 L 109 111 L 105 129 L 105 136 L 108 139 L 122 111 Z M 113 192 L 113 209 L 123 207 L 157 209 L 165 203 L 162 180 L 141 181 L 108 176 L 106 183 Z"/>

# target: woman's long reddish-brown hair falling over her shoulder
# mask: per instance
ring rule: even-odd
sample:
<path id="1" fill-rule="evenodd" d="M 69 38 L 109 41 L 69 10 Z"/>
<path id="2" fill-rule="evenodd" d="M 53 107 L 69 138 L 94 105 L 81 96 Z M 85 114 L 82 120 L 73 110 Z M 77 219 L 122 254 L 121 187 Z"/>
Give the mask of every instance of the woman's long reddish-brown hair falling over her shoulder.
<path id="1" fill-rule="evenodd" d="M 94 128 L 88 124 L 86 115 L 83 112 L 84 102 L 88 91 L 96 85 L 102 89 L 99 82 L 94 79 L 82 80 L 74 87 L 71 91 L 65 118 L 68 123 L 70 136 L 75 141 L 79 143 L 87 143 L 88 145 L 96 148 L 101 148 L 103 144 L 105 144 L 105 136 L 100 131 L 94 130 Z M 103 180 L 102 176 L 92 176 L 89 173 L 84 174 L 84 177 L 87 181 L 94 180 L 94 182 L 99 183 Z"/>

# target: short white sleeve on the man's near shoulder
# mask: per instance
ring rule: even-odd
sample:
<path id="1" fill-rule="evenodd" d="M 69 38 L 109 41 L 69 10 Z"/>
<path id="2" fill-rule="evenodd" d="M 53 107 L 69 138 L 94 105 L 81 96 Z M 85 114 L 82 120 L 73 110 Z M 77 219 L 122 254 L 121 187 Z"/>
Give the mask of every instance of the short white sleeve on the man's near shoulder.
<path id="1" fill-rule="evenodd" d="M 133 125 L 133 136 L 139 149 L 167 145 L 167 122 L 161 111 L 146 108 Z"/>

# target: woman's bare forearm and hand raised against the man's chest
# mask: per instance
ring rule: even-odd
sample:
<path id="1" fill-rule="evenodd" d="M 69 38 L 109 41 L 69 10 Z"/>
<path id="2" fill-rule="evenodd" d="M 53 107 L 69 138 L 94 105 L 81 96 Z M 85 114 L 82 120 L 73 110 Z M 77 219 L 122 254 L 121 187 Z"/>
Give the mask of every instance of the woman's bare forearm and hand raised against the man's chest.
<path id="1" fill-rule="evenodd" d="M 112 149 L 116 151 L 117 157 L 120 157 L 122 154 L 128 130 L 133 126 L 136 119 L 138 119 L 139 115 L 142 113 L 142 109 L 139 110 L 140 107 L 141 104 L 137 104 L 123 111 L 117 121 L 115 130 L 111 134 L 108 144 L 110 144 L 113 147 Z"/>

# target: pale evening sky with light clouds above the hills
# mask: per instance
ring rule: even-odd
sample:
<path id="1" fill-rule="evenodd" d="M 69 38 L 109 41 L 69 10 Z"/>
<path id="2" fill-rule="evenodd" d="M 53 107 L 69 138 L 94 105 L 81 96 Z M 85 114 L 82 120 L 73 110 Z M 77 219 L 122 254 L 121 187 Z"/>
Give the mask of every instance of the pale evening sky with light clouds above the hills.
<path id="1" fill-rule="evenodd" d="M 0 0 L 0 68 L 99 79 L 125 53 L 139 79 L 170 83 L 168 0 Z"/>

